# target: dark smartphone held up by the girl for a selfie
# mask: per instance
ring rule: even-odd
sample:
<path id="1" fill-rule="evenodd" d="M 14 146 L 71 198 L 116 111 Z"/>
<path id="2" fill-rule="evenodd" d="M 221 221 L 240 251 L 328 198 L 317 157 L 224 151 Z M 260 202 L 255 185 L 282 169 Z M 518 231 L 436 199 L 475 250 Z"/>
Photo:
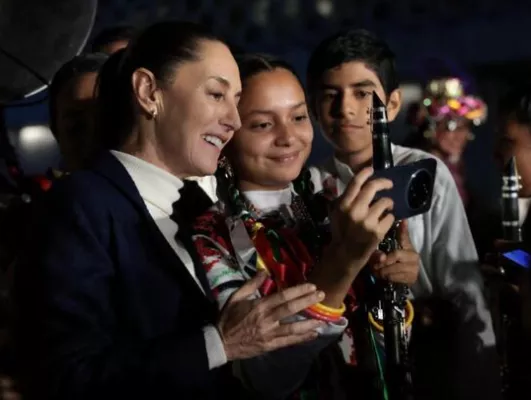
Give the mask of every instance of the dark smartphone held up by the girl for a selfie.
<path id="1" fill-rule="evenodd" d="M 436 172 L 437 161 L 433 158 L 375 171 L 371 179 L 389 179 L 393 181 L 393 188 L 376 193 L 374 201 L 390 197 L 394 202 L 392 213 L 397 220 L 424 214 L 431 208 Z"/>

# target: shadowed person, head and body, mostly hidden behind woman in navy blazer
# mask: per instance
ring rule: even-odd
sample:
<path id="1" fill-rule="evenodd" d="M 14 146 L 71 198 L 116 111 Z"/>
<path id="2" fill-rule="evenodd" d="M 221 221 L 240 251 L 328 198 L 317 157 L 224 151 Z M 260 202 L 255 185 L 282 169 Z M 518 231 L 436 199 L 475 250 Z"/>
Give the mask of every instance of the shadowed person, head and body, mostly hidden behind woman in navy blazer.
<path id="1" fill-rule="evenodd" d="M 61 167 L 68 171 L 81 167 L 90 154 L 95 119 L 94 88 L 98 71 L 106 60 L 105 54 L 77 56 L 59 69 L 50 85 L 50 127 L 61 151 Z M 4 147 L 4 152 L 7 150 Z M 52 179 L 63 172 L 51 170 L 47 174 L 51 176 L 25 176 L 15 156 L 6 154 L 4 159 L 9 185 L 2 185 L 0 196 L 0 396 L 14 400 L 20 396 L 12 379 L 14 356 L 9 299 L 12 274 L 21 254 L 28 251 L 24 236 L 33 223 L 31 205 L 40 201 L 51 187 Z"/>

